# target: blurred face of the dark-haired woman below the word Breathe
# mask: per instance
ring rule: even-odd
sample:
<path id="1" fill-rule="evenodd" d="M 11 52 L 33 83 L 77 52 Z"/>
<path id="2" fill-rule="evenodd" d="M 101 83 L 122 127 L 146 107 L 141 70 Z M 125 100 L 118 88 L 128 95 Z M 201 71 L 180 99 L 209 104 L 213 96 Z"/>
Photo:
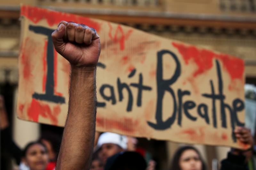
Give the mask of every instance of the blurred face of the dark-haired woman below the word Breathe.
<path id="1" fill-rule="evenodd" d="M 202 162 L 193 149 L 188 149 L 181 154 L 179 165 L 181 170 L 202 170 Z"/>

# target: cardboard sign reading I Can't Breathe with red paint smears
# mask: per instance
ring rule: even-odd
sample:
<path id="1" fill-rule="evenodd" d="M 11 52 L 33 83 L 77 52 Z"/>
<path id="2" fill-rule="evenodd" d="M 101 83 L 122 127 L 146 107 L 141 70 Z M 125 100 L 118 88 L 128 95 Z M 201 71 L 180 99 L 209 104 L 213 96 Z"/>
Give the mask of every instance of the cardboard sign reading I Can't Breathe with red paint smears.
<path id="1" fill-rule="evenodd" d="M 100 36 L 98 131 L 247 147 L 233 133 L 244 126 L 243 60 L 68 13 L 21 6 L 21 16 L 19 118 L 64 126 L 70 65 L 51 34 L 61 20 L 73 21 Z"/>

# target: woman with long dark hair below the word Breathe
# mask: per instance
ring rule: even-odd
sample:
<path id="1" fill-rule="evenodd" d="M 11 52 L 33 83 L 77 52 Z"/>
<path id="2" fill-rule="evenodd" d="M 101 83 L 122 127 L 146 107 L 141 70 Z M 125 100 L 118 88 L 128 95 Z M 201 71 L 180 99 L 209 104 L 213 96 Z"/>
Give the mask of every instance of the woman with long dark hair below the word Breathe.
<path id="1" fill-rule="evenodd" d="M 175 152 L 170 170 L 206 170 L 206 165 L 195 147 L 183 146 Z"/>

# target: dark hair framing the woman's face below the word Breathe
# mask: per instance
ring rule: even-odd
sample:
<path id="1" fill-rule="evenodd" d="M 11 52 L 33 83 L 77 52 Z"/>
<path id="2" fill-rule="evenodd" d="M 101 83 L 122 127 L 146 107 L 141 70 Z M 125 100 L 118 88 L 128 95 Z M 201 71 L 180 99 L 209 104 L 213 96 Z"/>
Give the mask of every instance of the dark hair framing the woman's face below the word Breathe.
<path id="1" fill-rule="evenodd" d="M 179 162 L 180 162 L 180 157 L 181 157 L 181 155 L 182 155 L 182 153 L 183 153 L 184 151 L 189 150 L 189 149 L 192 149 L 192 150 L 196 151 L 196 153 L 198 154 L 199 159 L 200 159 L 200 161 L 202 162 L 202 170 L 206 170 L 206 169 L 207 169 L 207 168 L 206 168 L 206 165 L 205 165 L 205 163 L 204 163 L 204 160 L 203 160 L 203 158 L 202 158 L 202 156 L 201 156 L 201 154 L 200 154 L 200 152 L 199 152 L 195 147 L 193 147 L 193 146 L 183 146 L 183 147 L 180 147 L 180 148 L 175 152 L 175 154 L 174 154 L 174 156 L 173 156 L 173 159 L 172 159 L 172 165 L 171 165 L 170 170 L 181 170 L 181 169 L 180 169 L 180 164 L 179 164 Z"/>

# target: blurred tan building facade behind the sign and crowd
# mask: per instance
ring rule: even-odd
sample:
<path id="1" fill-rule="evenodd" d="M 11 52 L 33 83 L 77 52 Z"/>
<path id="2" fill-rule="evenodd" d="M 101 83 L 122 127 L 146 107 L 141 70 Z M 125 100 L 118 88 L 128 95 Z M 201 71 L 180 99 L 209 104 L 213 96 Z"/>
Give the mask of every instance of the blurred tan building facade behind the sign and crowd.
<path id="1" fill-rule="evenodd" d="M 220 51 L 244 59 L 247 126 L 255 131 L 256 0 L 1 0 L 0 1 L 0 94 L 4 96 L 13 140 L 23 148 L 42 133 L 61 136 L 63 129 L 16 118 L 20 3 L 103 19 Z M 250 85 L 249 85 L 250 84 Z M 249 109 L 248 109 L 249 107 Z M 166 169 L 180 144 L 138 139 Z M 225 158 L 230 148 L 196 145 L 209 169 Z M 1 148 L 1 164 L 15 163 Z"/>

